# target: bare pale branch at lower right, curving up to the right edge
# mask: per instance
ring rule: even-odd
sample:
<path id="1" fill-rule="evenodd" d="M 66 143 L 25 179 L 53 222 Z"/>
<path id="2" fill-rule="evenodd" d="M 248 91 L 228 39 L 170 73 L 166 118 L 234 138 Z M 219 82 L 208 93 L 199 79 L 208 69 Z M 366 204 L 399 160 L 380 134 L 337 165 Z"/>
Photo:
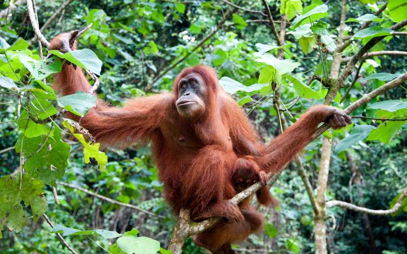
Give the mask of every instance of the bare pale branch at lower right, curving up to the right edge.
<path id="1" fill-rule="evenodd" d="M 347 202 L 343 202 L 343 201 L 339 201 L 339 200 L 332 200 L 332 201 L 328 201 L 327 202 L 327 207 L 333 207 L 333 206 L 339 206 L 342 207 L 344 209 L 348 209 L 348 210 L 352 210 L 352 211 L 356 211 L 356 212 L 361 212 L 361 213 L 366 213 L 369 215 L 391 215 L 395 212 L 397 212 L 400 208 L 401 208 L 401 204 L 403 199 L 407 197 L 407 188 L 404 189 L 400 195 L 400 197 L 397 200 L 397 203 L 388 210 L 373 210 L 373 209 L 368 209 L 365 207 L 361 207 L 361 206 L 357 206 L 351 203 L 347 203 Z"/>

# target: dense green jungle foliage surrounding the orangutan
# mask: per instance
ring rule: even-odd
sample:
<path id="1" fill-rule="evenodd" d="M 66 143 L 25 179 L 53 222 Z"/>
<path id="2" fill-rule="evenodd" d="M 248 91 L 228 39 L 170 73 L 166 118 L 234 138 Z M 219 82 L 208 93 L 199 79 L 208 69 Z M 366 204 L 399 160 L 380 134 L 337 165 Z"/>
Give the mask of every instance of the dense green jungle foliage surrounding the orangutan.
<path id="1" fill-rule="evenodd" d="M 232 247 L 237 253 L 310 253 L 321 244 L 338 253 L 407 252 L 407 26 L 394 27 L 407 19 L 405 0 L 37 0 L 35 5 L 39 27 L 50 20 L 41 29 L 48 41 L 92 26 L 79 37 L 76 53 L 48 52 L 43 45 L 41 58 L 26 2 L 0 0 L 0 252 L 71 253 L 55 233 L 60 232 L 77 253 L 170 253 L 177 215 L 163 199 L 150 144 L 100 149 L 78 132 L 61 112 L 83 116 L 96 99 L 88 93 L 57 97 L 52 76 L 65 61 L 98 76 L 98 97 L 115 106 L 171 90 L 185 67 L 212 66 L 266 143 L 312 105 L 328 100 L 345 109 L 401 79 L 350 113 L 359 116 L 351 125 L 312 141 L 301 162 L 290 163 L 271 187 L 279 205 L 259 208 L 264 230 Z M 377 38 L 341 77 L 352 57 Z M 97 80 L 88 78 L 92 84 Z M 332 151 L 322 148 L 324 137 Z M 318 243 L 304 183 L 312 187 L 311 199 L 318 199 L 317 190 L 324 189 L 323 149 L 330 154 L 326 201 L 373 210 L 397 203 L 397 211 L 382 216 L 324 203 L 326 244 Z M 205 251 L 191 237 L 183 246 L 183 253 Z"/>

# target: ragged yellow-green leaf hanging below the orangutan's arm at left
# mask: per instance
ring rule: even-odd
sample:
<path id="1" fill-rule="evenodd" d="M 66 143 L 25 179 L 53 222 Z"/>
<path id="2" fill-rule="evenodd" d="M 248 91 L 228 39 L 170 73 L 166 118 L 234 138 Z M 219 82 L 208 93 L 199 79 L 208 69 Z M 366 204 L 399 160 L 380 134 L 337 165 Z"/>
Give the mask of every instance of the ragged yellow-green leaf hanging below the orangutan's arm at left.
<path id="1" fill-rule="evenodd" d="M 72 125 L 69 124 L 70 121 L 64 121 L 63 125 L 68 128 L 72 135 L 83 145 L 83 157 L 85 159 L 85 163 L 90 163 L 90 158 L 95 158 L 98 162 L 99 169 L 105 170 L 107 164 L 107 155 L 104 152 L 99 151 L 100 143 L 91 144 L 91 142 L 87 142 L 82 134 L 75 133 L 75 129 Z"/>

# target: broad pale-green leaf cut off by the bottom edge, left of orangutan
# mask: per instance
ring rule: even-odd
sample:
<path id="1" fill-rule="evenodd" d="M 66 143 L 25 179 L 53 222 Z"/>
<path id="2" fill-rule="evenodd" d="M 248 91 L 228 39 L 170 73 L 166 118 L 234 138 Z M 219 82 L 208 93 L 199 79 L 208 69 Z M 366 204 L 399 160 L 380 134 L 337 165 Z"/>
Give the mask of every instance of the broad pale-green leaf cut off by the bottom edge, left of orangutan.
<path id="1" fill-rule="evenodd" d="M 160 242 L 148 237 L 122 236 L 117 240 L 118 246 L 126 253 L 156 254 Z"/>

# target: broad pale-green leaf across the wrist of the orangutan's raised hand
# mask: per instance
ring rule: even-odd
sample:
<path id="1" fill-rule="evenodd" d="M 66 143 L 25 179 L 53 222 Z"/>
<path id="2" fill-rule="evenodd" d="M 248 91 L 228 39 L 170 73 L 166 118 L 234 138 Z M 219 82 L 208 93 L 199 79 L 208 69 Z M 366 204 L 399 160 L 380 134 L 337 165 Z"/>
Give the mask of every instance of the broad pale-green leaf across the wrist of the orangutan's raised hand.
<path id="1" fill-rule="evenodd" d="M 102 70 L 102 61 L 90 49 L 84 48 L 67 53 L 61 53 L 58 50 L 50 50 L 48 52 L 60 58 L 67 59 L 75 65 L 89 70 L 97 75 L 100 75 L 100 71 Z"/>

